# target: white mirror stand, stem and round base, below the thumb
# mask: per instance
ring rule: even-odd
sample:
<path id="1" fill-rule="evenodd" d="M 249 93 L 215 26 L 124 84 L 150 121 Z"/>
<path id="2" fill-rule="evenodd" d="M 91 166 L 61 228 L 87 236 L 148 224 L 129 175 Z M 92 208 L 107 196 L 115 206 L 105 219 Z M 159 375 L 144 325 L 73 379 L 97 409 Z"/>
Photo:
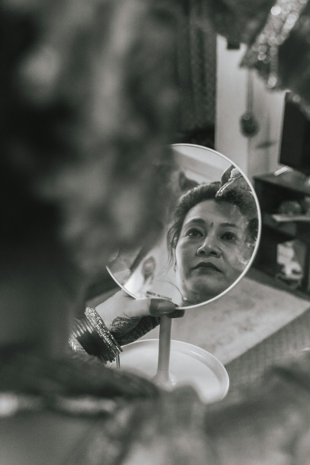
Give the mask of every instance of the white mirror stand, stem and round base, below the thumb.
<path id="1" fill-rule="evenodd" d="M 171 340 L 171 323 L 170 318 L 162 316 L 159 339 L 143 339 L 123 346 L 120 368 L 152 379 L 166 391 L 191 385 L 207 404 L 224 399 L 229 388 L 224 365 L 196 345 Z"/>

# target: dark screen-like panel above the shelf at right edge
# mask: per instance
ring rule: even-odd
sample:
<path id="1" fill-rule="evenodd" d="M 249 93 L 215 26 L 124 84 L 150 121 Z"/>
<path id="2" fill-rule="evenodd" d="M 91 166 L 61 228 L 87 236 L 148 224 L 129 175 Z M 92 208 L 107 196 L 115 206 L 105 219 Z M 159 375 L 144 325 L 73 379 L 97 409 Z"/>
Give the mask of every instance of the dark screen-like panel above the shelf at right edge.
<path id="1" fill-rule="evenodd" d="M 290 93 L 285 95 L 279 163 L 310 174 L 310 120 L 290 100 Z"/>

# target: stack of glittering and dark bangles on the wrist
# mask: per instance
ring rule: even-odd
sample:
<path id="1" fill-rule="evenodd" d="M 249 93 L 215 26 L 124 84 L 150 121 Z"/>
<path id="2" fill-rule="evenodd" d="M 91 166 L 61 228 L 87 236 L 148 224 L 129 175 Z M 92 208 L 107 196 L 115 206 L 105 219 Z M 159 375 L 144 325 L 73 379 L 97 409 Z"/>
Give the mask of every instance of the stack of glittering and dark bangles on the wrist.
<path id="1" fill-rule="evenodd" d="M 83 317 L 75 319 L 69 345 L 74 351 L 95 355 L 104 362 L 116 359 L 119 367 L 122 348 L 93 307 L 87 307 Z"/>

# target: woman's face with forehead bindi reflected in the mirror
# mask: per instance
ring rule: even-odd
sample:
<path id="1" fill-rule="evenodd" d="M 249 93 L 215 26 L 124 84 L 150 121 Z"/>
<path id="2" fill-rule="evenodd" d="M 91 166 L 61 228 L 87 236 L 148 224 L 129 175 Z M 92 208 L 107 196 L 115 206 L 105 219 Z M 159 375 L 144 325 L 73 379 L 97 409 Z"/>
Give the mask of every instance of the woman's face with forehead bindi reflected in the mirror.
<path id="1" fill-rule="evenodd" d="M 247 225 L 239 208 L 224 201 L 204 200 L 187 213 L 175 250 L 185 305 L 215 297 L 238 278 L 251 258 Z"/>

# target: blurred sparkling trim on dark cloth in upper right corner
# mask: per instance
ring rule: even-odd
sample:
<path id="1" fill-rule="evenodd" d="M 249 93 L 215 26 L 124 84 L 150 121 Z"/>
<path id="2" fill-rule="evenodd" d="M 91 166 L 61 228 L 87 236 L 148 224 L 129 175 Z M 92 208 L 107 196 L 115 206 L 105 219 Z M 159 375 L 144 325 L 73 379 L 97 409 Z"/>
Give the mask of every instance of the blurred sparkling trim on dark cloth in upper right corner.
<path id="1" fill-rule="evenodd" d="M 265 75 L 267 87 L 279 88 L 278 47 L 288 38 L 308 0 L 277 0 L 264 29 L 247 50 L 241 66 L 257 68 Z"/>

